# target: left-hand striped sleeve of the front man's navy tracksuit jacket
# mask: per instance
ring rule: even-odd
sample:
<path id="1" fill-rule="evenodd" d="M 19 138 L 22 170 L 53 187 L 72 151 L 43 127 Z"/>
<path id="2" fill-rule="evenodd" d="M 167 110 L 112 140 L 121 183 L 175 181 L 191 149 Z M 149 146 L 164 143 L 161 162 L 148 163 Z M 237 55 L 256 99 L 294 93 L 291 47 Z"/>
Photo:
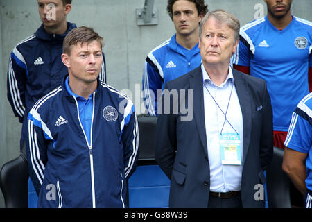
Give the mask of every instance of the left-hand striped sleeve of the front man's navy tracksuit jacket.
<path id="1" fill-rule="evenodd" d="M 37 194 L 39 194 L 44 180 L 44 169 L 47 162 L 46 138 L 51 138 L 49 130 L 47 130 L 45 124 L 42 123 L 40 115 L 32 109 L 28 114 L 28 139 L 26 142 L 26 154 L 29 176 L 33 181 Z"/>

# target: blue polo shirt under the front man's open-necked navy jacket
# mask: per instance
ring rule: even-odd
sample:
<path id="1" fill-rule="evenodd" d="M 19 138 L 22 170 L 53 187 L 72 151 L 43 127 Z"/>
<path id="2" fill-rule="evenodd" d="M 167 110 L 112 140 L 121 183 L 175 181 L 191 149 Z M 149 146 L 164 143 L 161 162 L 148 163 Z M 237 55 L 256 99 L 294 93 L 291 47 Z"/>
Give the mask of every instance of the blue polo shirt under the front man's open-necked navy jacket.
<path id="1" fill-rule="evenodd" d="M 89 144 L 91 143 L 91 124 L 92 124 L 92 112 L 93 112 L 93 94 L 89 95 L 89 98 L 86 100 L 82 96 L 78 96 L 71 91 L 71 87 L 69 87 L 69 77 L 65 80 L 65 86 L 67 92 L 71 96 L 75 96 L 78 108 L 79 108 L 79 118 L 81 125 L 83 126 L 83 130 L 85 130 L 85 135 L 88 139 Z"/>

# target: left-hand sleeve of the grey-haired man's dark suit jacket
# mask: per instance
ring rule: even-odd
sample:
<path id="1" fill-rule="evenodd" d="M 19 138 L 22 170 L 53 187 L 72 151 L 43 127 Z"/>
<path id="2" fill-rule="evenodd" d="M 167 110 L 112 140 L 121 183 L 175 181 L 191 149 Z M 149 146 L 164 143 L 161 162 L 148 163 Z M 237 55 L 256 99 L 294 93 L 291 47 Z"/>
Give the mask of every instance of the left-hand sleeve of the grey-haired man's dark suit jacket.
<path id="1" fill-rule="evenodd" d="M 167 86 L 168 83 L 166 83 L 165 89 L 168 89 Z M 155 158 L 162 171 L 171 179 L 175 151 L 177 151 L 177 121 L 173 112 L 175 103 L 173 103 L 172 96 L 170 97 L 170 103 L 165 101 L 165 95 L 163 94 L 162 99 L 159 101 L 161 103 L 159 108 L 162 108 L 162 112 L 159 112 L 157 117 Z M 170 105 L 169 112 L 164 111 L 166 110 L 166 105 Z"/>

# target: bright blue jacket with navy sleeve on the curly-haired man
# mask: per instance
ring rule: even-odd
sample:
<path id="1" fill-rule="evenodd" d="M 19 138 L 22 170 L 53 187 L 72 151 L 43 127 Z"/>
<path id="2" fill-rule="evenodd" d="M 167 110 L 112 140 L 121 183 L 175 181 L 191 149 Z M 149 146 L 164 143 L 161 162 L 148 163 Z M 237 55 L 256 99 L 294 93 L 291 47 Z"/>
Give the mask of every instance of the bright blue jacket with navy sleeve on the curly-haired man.
<path id="1" fill-rule="evenodd" d="M 187 74 L 201 62 L 198 44 L 188 50 L 177 43 L 176 34 L 150 51 L 142 79 L 143 101 L 148 114 L 157 116 L 157 91 L 164 90 L 166 82 Z"/>

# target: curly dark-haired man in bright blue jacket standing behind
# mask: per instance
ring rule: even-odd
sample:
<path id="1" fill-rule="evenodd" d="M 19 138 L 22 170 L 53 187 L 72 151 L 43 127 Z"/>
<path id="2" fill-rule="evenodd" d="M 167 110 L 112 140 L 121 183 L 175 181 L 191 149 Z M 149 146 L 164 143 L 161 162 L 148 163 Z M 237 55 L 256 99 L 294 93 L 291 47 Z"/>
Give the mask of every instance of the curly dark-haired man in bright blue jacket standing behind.
<path id="1" fill-rule="evenodd" d="M 157 91 L 166 82 L 200 65 L 198 27 L 208 12 L 205 0 L 168 0 L 167 12 L 175 35 L 148 53 L 143 70 L 144 104 L 148 114 L 157 115 Z"/>

